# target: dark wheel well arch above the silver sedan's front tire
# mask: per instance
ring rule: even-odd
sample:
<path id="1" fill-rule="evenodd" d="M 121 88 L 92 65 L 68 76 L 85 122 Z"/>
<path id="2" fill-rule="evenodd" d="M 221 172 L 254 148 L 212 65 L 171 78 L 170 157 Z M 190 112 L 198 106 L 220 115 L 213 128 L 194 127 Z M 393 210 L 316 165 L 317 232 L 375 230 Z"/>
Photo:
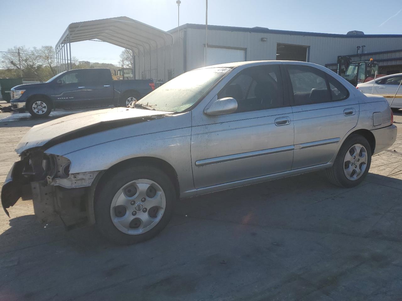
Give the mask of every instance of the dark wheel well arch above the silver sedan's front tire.
<path id="1" fill-rule="evenodd" d="M 102 187 L 103 183 L 105 183 L 109 179 L 110 175 L 112 175 L 119 169 L 127 167 L 127 165 L 132 165 L 133 167 L 135 167 L 135 165 L 151 165 L 159 169 L 162 169 L 162 171 L 164 171 L 166 175 L 168 175 L 170 181 L 172 181 L 174 190 L 176 191 L 176 196 L 179 197 L 180 190 L 176 170 L 172 167 L 172 165 L 170 165 L 166 161 L 155 157 L 131 158 L 113 165 L 100 177 L 98 183 L 96 184 L 94 195 L 96 195 L 97 188 Z"/>

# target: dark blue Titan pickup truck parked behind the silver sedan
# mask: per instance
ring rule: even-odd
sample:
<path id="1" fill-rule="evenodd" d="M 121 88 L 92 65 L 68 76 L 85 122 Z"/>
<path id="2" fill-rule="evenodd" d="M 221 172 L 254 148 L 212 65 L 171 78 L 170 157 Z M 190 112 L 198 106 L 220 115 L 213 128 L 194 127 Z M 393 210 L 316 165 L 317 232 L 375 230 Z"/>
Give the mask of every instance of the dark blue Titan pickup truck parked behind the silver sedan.
<path id="1" fill-rule="evenodd" d="M 11 108 L 28 111 L 34 118 L 51 109 L 127 106 L 152 92 L 152 79 L 113 80 L 110 69 L 74 69 L 59 73 L 45 83 L 18 85 L 11 89 Z"/>

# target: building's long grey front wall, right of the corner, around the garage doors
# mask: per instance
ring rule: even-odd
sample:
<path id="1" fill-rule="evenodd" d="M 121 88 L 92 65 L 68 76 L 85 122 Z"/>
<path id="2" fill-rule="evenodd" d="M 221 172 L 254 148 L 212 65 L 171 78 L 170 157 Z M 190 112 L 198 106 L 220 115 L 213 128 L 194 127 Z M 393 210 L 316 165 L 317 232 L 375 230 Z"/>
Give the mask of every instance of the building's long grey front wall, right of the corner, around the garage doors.
<path id="1" fill-rule="evenodd" d="M 205 30 L 187 28 L 187 71 L 204 65 Z M 261 38 L 267 38 L 262 42 Z M 320 65 L 336 63 L 338 55 L 356 52 L 365 45 L 365 52 L 402 48 L 401 37 L 316 37 L 250 33 L 239 31 L 208 31 L 208 45 L 246 48 L 246 60 L 275 60 L 277 43 L 309 46 L 309 61 Z"/>

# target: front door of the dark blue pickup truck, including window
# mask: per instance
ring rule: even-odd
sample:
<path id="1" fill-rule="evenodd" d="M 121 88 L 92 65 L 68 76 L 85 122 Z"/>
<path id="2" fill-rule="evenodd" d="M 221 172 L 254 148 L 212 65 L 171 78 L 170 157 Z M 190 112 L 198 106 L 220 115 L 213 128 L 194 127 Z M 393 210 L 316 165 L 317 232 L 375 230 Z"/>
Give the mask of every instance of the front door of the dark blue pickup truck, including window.
<path id="1" fill-rule="evenodd" d="M 86 99 L 84 77 L 80 70 L 63 73 L 54 81 L 51 98 L 57 108 L 73 108 Z"/>

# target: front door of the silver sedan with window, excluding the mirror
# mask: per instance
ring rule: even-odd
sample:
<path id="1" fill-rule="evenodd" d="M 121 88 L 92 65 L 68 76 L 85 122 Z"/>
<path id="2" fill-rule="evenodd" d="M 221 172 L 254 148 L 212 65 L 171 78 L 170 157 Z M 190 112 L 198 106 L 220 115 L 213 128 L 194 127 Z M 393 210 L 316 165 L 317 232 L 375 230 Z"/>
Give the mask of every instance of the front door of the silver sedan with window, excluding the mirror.
<path id="1" fill-rule="evenodd" d="M 191 160 L 197 189 L 291 169 L 293 115 L 283 97 L 280 64 L 240 71 L 215 96 L 238 109 L 193 117 Z"/>

